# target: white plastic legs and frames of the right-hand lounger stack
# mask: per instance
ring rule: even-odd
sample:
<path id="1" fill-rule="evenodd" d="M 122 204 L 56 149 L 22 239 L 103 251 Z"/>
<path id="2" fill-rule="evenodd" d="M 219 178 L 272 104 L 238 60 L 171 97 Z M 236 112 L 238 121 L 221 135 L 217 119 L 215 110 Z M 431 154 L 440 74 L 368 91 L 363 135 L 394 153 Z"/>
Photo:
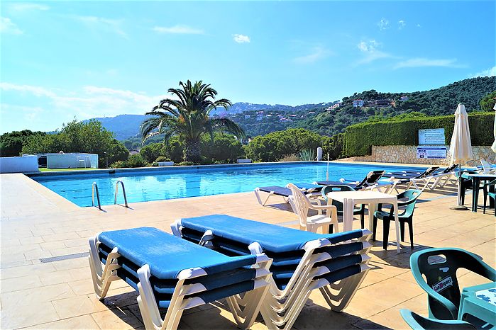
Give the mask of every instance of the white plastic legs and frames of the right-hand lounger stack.
<path id="1" fill-rule="evenodd" d="M 171 228 L 173 234 L 178 237 L 182 236 L 181 220 L 177 220 L 171 224 Z M 322 295 L 324 295 L 326 302 L 328 302 L 332 310 L 341 312 L 348 306 L 370 269 L 368 266 L 368 261 L 370 260 L 368 253 L 372 245 L 368 242 L 368 239 L 372 233 L 368 229 L 362 229 L 362 231 L 363 236 L 356 240 L 363 242 L 363 249 L 356 252 L 362 256 L 362 263 L 360 263 L 361 272 L 356 275 L 340 280 L 337 283 L 329 283 L 325 279 L 314 280 L 316 276 L 329 273 L 329 269 L 326 267 L 314 268 L 314 264 L 332 258 L 326 252 L 314 254 L 314 250 L 324 246 L 335 245 L 331 244 L 327 239 L 317 239 L 315 241 L 309 241 L 304 245 L 304 256 L 302 256 L 302 260 L 299 262 L 284 290 L 277 288 L 271 276 L 271 294 L 265 297 L 263 306 L 260 309 L 265 325 L 269 329 L 291 329 L 299 313 L 302 311 L 305 302 L 307 302 L 309 295 L 316 289 L 321 290 Z M 212 237 L 212 232 L 210 230 L 206 231 L 200 240 L 200 244 L 209 246 L 209 240 Z M 250 244 L 248 248 L 252 254 L 260 254 L 262 252 L 260 244 L 256 242 Z"/>

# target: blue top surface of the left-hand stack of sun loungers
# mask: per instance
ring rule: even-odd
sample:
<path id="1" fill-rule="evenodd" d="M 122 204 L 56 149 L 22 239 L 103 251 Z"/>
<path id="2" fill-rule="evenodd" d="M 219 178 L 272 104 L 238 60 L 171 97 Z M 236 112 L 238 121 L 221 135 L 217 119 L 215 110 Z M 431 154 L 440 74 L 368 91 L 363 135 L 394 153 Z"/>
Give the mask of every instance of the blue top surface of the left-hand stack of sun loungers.
<path id="1" fill-rule="evenodd" d="M 99 241 L 136 266 L 148 265 L 158 279 L 177 278 L 180 271 L 201 267 L 206 273 L 219 273 L 253 265 L 256 256 L 229 257 L 172 236 L 159 229 L 140 227 L 102 232 Z"/>

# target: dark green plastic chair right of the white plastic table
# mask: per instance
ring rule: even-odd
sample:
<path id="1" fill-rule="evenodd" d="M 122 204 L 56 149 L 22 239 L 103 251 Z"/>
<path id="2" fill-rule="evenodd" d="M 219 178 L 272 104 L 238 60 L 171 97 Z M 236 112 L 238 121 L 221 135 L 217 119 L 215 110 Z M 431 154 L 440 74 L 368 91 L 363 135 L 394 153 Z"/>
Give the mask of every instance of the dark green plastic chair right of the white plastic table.
<path id="1" fill-rule="evenodd" d="M 417 202 L 417 198 L 421 194 L 420 190 L 417 189 L 409 189 L 404 190 L 404 192 L 397 195 L 398 198 L 398 207 L 405 206 L 403 212 L 398 214 L 399 220 L 399 229 L 401 231 L 401 239 L 404 241 L 404 224 L 408 224 L 408 230 L 410 233 L 410 246 L 413 249 L 413 212 L 415 210 L 415 203 Z M 407 198 L 407 200 L 402 201 L 402 199 Z M 382 204 L 377 206 L 377 211 L 374 212 L 373 219 L 373 236 L 372 239 L 375 241 L 375 233 L 377 232 L 377 219 L 382 220 L 384 222 L 384 230 L 383 232 L 383 248 L 387 249 L 387 238 L 390 234 L 390 222 L 395 221 L 395 210 L 391 207 L 389 212 L 382 211 Z"/>

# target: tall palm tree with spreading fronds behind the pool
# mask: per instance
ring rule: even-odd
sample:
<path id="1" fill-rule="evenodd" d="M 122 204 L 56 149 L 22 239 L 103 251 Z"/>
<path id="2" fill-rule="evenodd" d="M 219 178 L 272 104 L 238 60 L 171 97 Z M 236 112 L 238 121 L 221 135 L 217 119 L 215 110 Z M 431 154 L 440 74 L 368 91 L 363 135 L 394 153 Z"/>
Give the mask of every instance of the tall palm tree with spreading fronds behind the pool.
<path id="1" fill-rule="evenodd" d="M 140 127 L 143 142 L 149 137 L 164 134 L 167 143 L 172 136 L 179 136 L 184 142 L 184 160 L 200 160 L 200 138 L 208 133 L 213 140 L 214 132 L 227 132 L 236 137 L 244 137 L 245 132 L 238 124 L 228 118 L 212 118 L 210 113 L 216 108 L 232 106 L 226 98 L 215 100 L 217 91 L 210 85 L 196 81 L 179 83 L 180 89 L 168 92 L 178 99 L 165 98 L 146 115 L 153 115 Z"/>

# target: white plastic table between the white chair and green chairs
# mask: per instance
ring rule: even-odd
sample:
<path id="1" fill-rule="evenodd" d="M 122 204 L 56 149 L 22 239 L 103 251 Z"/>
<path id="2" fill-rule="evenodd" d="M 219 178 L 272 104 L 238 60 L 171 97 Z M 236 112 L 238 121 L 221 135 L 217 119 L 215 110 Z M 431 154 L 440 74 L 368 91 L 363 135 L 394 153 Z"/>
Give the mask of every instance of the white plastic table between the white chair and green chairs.
<path id="1" fill-rule="evenodd" d="M 395 195 L 380 193 L 379 191 L 358 190 L 358 191 L 331 191 L 327 194 L 329 203 L 337 200 L 343 203 L 343 232 L 353 229 L 353 208 L 357 204 L 368 204 L 368 229 L 373 230 L 373 216 L 377 209 L 377 204 L 392 204 L 395 208 L 395 227 L 396 227 L 396 247 L 399 253 L 399 220 L 398 220 L 398 198 Z"/>

